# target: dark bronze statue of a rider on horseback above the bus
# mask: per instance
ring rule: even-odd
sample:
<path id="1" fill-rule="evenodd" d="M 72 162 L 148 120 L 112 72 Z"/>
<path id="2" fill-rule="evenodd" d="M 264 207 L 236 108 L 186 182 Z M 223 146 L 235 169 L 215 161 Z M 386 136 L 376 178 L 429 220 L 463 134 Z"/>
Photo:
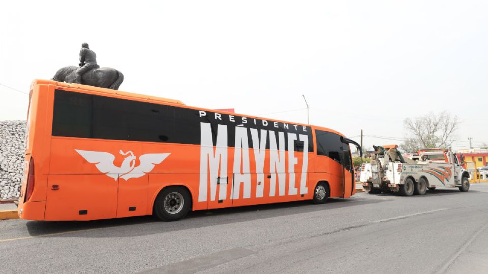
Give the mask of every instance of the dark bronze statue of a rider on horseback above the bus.
<path id="1" fill-rule="evenodd" d="M 70 65 L 59 68 L 52 80 L 117 90 L 124 81 L 124 75 L 114 68 L 100 67 L 97 54 L 88 48 L 87 43 L 81 47 L 80 67 Z"/>

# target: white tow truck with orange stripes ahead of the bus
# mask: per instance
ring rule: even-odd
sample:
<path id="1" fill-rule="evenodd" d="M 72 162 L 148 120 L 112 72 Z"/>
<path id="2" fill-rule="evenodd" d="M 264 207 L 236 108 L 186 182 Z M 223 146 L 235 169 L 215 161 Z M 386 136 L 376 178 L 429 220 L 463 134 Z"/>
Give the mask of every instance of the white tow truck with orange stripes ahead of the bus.
<path id="1" fill-rule="evenodd" d="M 428 189 L 437 187 L 457 187 L 463 192 L 469 190 L 469 173 L 450 148 L 421 149 L 416 162 L 401 157 L 396 148 L 396 145 L 375 147 L 370 167 L 365 164 L 361 168 L 365 170 L 365 175 L 360 178 L 365 191 L 412 196 L 424 195 Z"/>

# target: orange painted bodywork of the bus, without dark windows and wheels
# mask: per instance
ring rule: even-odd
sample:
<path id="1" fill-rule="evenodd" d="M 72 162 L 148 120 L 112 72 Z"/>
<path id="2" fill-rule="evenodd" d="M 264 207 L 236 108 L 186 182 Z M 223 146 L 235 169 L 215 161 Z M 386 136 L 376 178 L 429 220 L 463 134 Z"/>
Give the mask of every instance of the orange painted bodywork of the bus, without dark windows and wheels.
<path id="1" fill-rule="evenodd" d="M 128 141 L 55 134 L 55 94 L 65 94 L 63 92 L 176 108 L 175 111 L 189 113 L 187 116 L 197 119 L 200 141 L 178 143 L 174 138 L 172 142 Z M 22 219 L 96 220 L 149 215 L 153 213 L 158 193 L 168 186 L 186 187 L 192 197 L 192 210 L 312 199 L 319 182 L 327 183 L 330 197 L 347 198 L 354 194 L 352 170 L 332 160 L 330 155 L 317 155 L 316 130 L 329 132 L 337 138 L 343 136 L 329 128 L 221 111 L 217 113 L 215 110 L 188 107 L 177 100 L 47 80 L 36 80 L 31 94 L 26 170 L 18 210 Z M 71 102 L 75 107 L 82 104 L 82 101 Z M 154 110 L 154 113 L 159 111 Z M 174 119 L 177 118 L 175 116 Z M 210 119 L 216 121 L 212 130 L 217 128 L 217 124 L 219 129 L 209 135 L 210 142 L 214 139 L 214 146 L 208 150 L 203 138 L 205 124 Z M 225 119 L 228 119 L 227 124 L 221 126 Z M 241 119 L 240 124 L 229 124 L 233 119 Z M 192 126 L 181 123 L 175 123 L 174 130 L 187 130 L 185 128 Z M 178 126 L 181 128 L 176 128 Z M 265 129 L 255 129 L 259 127 Z M 236 140 L 235 144 L 226 142 L 225 147 L 219 145 L 219 136 L 223 136 L 221 129 Z M 107 132 L 111 134 L 110 131 Z M 187 139 L 196 138 L 180 134 Z M 271 136 L 276 137 L 275 150 L 271 150 L 271 141 L 262 140 L 263 136 L 269 140 Z M 255 138 L 258 138 L 257 143 L 253 143 Z M 260 145 L 260 141 L 265 147 Z M 248 144 L 257 147 L 248 148 Z M 288 149 L 284 149 L 286 147 Z M 205 156 L 205 153 L 209 154 Z M 214 156 L 216 158 L 212 158 Z M 35 163 L 35 187 L 31 198 L 24 201 L 28 163 L 32 159 Z M 151 160 L 147 162 L 146 159 Z M 218 176 L 217 179 L 212 177 L 212 164 L 216 163 L 214 176 Z M 215 179 L 218 184 L 212 186 Z"/>

